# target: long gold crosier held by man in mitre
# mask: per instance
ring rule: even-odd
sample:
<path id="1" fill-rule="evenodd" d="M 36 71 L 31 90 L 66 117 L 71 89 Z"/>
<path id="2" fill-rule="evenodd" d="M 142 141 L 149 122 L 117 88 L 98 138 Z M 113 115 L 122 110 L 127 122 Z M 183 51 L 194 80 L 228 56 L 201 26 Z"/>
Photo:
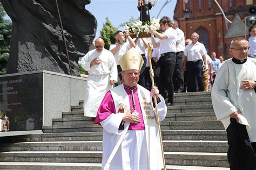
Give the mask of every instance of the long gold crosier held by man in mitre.
<path id="1" fill-rule="evenodd" d="M 152 82 L 152 87 L 154 87 L 154 71 L 152 68 L 152 63 L 151 63 L 151 59 L 152 59 L 152 48 L 150 46 L 150 44 L 147 44 L 147 56 L 149 58 L 149 65 L 150 65 L 150 78 L 151 78 L 151 82 Z M 164 147 L 163 147 L 163 140 L 162 140 L 162 136 L 161 136 L 161 128 L 160 128 L 160 121 L 159 121 L 159 113 L 158 113 L 158 107 L 157 107 L 157 97 L 156 95 L 153 96 L 154 98 L 154 103 L 156 105 L 156 114 L 157 114 L 157 125 L 158 125 L 158 131 L 159 131 L 159 138 L 160 138 L 160 144 L 161 144 L 161 153 L 162 153 L 162 158 L 163 158 L 163 164 L 164 164 L 164 170 L 166 170 L 166 165 L 165 165 L 165 158 L 164 158 Z"/>

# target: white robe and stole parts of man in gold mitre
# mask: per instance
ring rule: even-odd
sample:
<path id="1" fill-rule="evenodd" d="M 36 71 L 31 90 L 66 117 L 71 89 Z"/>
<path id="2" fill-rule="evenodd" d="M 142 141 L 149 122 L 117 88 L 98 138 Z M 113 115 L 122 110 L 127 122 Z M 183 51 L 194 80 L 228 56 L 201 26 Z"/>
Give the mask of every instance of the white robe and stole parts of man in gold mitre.
<path id="1" fill-rule="evenodd" d="M 150 97 L 149 91 L 145 92 L 145 88 L 138 84 L 137 86 L 140 108 L 145 114 L 142 97 L 150 98 L 150 103 L 152 103 L 152 98 Z M 125 103 L 129 103 L 129 98 L 123 88 L 123 84 L 114 88 L 114 90 L 115 91 L 111 91 L 114 101 L 118 101 L 122 98 Z M 145 95 L 146 93 L 148 94 Z M 163 121 L 166 116 L 167 108 L 164 98 L 160 95 L 159 97 L 161 101 L 158 103 L 159 121 Z M 129 105 L 127 105 L 127 107 L 129 107 Z M 116 110 L 117 108 L 116 104 Z M 152 112 L 152 114 L 154 115 L 154 112 Z M 111 114 L 104 121 L 100 122 L 104 128 L 102 169 L 158 170 L 163 168 L 156 119 L 150 120 L 143 116 L 145 130 L 128 130 L 130 123 L 124 123 L 124 130 L 118 130 L 124 115 L 125 113 Z"/>

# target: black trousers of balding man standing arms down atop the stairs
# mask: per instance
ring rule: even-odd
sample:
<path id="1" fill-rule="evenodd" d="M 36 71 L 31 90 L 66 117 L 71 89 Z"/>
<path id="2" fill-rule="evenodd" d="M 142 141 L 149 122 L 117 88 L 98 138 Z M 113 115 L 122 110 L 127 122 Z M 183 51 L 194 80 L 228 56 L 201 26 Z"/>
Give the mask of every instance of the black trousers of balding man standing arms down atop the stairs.
<path id="1" fill-rule="evenodd" d="M 186 63 L 187 92 L 197 91 L 196 79 L 198 83 L 198 91 L 204 91 L 202 77 L 203 77 L 203 60 L 197 60 L 196 62 L 187 61 Z"/>

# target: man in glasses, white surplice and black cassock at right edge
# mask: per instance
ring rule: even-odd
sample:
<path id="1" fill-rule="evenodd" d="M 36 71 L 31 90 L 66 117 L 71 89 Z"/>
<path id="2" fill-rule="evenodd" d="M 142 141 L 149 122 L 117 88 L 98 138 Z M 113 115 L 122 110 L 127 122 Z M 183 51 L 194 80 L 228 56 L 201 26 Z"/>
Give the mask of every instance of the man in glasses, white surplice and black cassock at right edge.
<path id="1" fill-rule="evenodd" d="M 212 89 L 212 104 L 227 130 L 231 169 L 255 169 L 256 152 L 256 59 L 248 58 L 248 41 L 231 42 L 233 58 L 218 68 Z"/>

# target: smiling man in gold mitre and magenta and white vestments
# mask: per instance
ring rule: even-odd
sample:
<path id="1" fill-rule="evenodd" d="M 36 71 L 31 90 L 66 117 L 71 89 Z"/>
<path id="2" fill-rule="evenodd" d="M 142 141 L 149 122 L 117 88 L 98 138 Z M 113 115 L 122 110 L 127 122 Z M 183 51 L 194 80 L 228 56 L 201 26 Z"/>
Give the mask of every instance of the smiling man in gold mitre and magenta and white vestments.
<path id="1" fill-rule="evenodd" d="M 95 123 L 103 126 L 102 169 L 161 169 L 161 147 L 152 96 L 158 100 L 159 120 L 166 116 L 164 98 L 157 87 L 140 86 L 142 56 L 129 49 L 119 60 L 123 84 L 108 91 Z"/>

